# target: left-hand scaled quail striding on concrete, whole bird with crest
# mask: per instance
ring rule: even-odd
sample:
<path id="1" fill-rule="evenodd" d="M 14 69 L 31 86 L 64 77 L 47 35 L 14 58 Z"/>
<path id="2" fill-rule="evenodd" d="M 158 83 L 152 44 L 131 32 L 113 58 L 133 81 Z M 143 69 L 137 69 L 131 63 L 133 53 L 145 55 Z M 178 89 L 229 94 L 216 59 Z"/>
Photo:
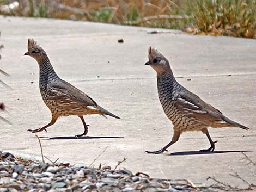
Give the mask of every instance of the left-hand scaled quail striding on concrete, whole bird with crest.
<path id="1" fill-rule="evenodd" d="M 34 58 L 39 65 L 40 93 L 52 115 L 51 122 L 46 126 L 38 129 L 28 129 L 27 131 L 32 133 L 46 131 L 46 128 L 52 126 L 58 117 L 76 115 L 82 120 L 84 132 L 75 135 L 75 137 L 82 137 L 88 133 L 89 126 L 84 121 L 83 115 L 109 115 L 120 119 L 120 117 L 99 106 L 93 98 L 59 78 L 44 49 L 32 38 L 28 39 L 28 52 L 24 55 Z"/>

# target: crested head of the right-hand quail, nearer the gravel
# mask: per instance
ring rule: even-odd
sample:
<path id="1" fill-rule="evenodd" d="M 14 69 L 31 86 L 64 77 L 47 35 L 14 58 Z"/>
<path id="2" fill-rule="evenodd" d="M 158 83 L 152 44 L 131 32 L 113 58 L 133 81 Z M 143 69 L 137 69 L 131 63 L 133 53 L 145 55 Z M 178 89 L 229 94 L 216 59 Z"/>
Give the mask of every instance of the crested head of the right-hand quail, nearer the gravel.
<path id="1" fill-rule="evenodd" d="M 149 47 L 149 61 L 145 65 L 150 65 L 157 73 L 170 70 L 169 61 L 154 47 Z"/>

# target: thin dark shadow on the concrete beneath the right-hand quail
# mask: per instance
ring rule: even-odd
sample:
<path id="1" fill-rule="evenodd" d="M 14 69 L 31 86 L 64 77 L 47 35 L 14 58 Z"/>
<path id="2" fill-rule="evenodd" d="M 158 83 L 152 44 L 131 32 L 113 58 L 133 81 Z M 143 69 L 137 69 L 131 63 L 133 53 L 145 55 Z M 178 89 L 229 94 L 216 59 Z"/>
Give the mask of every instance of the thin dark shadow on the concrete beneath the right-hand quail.
<path id="1" fill-rule="evenodd" d="M 191 156 L 195 154 L 218 154 L 218 153 L 238 153 L 238 152 L 253 152 L 253 150 L 237 150 L 237 151 L 181 151 L 166 154 L 167 156 Z"/>

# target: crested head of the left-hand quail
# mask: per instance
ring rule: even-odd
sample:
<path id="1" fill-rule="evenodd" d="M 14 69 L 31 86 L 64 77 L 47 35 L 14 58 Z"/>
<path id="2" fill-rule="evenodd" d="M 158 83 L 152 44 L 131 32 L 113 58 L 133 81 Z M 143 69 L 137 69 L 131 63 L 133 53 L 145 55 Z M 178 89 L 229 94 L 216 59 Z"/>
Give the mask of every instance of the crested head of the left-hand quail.
<path id="1" fill-rule="evenodd" d="M 39 63 L 46 53 L 36 41 L 33 39 L 28 39 L 28 52 L 26 52 L 24 55 L 33 57 Z"/>

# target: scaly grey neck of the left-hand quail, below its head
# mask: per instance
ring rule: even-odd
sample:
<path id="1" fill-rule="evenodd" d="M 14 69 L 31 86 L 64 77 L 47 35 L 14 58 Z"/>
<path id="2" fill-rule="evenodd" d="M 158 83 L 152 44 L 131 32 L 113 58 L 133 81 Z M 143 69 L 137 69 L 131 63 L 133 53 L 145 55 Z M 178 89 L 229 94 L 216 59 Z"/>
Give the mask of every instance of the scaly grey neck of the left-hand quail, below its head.
<path id="1" fill-rule="evenodd" d="M 39 70 L 40 70 L 40 79 L 39 79 L 40 88 L 47 86 L 48 82 L 59 78 L 56 72 L 54 71 L 52 64 L 47 56 L 42 58 L 42 60 L 40 61 Z"/>

